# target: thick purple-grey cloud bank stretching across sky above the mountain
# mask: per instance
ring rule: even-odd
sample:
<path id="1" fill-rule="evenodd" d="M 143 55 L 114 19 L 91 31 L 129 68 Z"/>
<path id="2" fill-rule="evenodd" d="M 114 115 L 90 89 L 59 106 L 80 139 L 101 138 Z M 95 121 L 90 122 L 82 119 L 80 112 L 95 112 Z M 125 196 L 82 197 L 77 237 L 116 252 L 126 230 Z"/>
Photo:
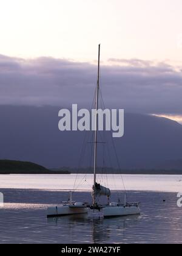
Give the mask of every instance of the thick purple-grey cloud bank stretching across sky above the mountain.
<path id="1" fill-rule="evenodd" d="M 96 72 L 97 66 L 91 63 L 0 55 L 0 104 L 87 107 L 92 104 Z M 101 65 L 101 89 L 108 107 L 182 113 L 181 71 L 166 63 L 110 59 L 109 65 Z"/>

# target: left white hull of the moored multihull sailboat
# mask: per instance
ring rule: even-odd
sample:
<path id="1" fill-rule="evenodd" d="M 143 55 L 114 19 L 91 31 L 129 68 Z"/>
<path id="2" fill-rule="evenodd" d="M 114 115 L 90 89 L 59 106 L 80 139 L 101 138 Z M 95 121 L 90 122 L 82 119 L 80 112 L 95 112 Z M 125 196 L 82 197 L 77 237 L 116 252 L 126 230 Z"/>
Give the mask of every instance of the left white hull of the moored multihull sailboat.
<path id="1" fill-rule="evenodd" d="M 70 205 L 59 205 L 47 208 L 47 217 L 76 215 L 87 213 L 86 207 L 70 207 Z"/>

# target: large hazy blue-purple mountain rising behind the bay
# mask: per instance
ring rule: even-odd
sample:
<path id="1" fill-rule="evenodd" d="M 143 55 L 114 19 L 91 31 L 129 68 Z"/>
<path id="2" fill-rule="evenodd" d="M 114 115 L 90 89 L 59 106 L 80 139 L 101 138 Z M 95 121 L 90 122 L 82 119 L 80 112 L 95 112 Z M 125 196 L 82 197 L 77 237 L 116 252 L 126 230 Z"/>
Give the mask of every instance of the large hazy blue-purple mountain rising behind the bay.
<path id="1" fill-rule="evenodd" d="M 47 168 L 77 167 L 86 133 L 60 132 L 60 108 L 0 106 L 0 157 L 29 160 Z M 91 165 L 90 141 L 87 137 L 81 168 Z M 182 157 L 182 126 L 166 118 L 125 113 L 124 137 L 114 141 L 121 169 L 160 169 L 161 163 Z M 106 148 L 110 150 L 106 166 L 118 168 L 110 141 Z M 103 165 L 102 155 L 103 145 L 99 144 L 98 166 Z"/>

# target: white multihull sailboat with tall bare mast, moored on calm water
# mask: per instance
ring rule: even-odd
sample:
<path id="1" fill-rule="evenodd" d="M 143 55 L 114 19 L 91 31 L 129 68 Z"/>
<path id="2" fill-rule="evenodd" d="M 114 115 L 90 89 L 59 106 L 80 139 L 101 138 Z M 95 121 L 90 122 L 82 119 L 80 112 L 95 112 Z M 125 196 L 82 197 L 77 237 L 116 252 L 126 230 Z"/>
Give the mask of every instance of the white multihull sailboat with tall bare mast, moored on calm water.
<path id="1" fill-rule="evenodd" d="M 110 202 L 111 191 L 96 182 L 97 169 L 97 146 L 98 146 L 98 95 L 99 95 L 99 69 L 100 69 L 100 44 L 98 46 L 98 78 L 95 96 L 95 136 L 94 136 L 94 163 L 93 163 L 93 187 L 92 204 L 86 202 L 75 202 L 72 200 L 72 191 L 70 191 L 69 201 L 61 202 L 60 205 L 47 208 L 47 217 L 87 214 L 89 218 L 104 218 L 112 216 L 139 215 L 140 202 L 129 203 L 126 201 L 124 193 L 124 202 Z M 98 198 L 106 196 L 107 204 L 99 204 Z"/>

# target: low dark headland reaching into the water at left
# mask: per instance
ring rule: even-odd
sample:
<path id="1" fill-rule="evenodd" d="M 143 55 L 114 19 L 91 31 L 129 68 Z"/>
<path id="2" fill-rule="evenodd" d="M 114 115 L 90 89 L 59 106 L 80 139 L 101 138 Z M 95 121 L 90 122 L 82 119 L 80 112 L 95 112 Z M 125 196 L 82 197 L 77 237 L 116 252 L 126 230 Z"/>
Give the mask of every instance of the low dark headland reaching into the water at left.
<path id="1" fill-rule="evenodd" d="M 0 174 L 69 174 L 69 171 L 51 171 L 31 162 L 0 160 Z"/>

